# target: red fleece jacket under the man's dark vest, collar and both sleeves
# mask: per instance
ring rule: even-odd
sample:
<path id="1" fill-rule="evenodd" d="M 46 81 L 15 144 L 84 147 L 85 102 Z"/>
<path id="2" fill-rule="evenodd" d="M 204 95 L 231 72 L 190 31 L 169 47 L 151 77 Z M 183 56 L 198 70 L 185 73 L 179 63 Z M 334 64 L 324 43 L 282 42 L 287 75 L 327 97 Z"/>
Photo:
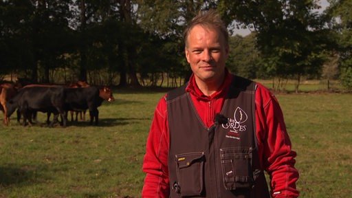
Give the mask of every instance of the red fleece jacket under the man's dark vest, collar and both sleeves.
<path id="1" fill-rule="evenodd" d="M 220 112 L 231 80 L 232 74 L 227 73 L 219 91 L 212 96 L 204 96 L 195 84 L 194 76 L 190 77 L 186 91 L 190 92 L 199 117 L 206 126 L 211 126 L 214 115 Z M 298 197 L 298 171 L 294 168 L 296 152 L 291 149 L 281 107 L 267 88 L 259 83 L 256 85 L 256 137 L 261 167 L 271 178 L 271 195 L 276 198 Z M 142 197 L 168 197 L 168 118 L 164 97 L 155 108 L 142 170 L 146 173 Z"/>

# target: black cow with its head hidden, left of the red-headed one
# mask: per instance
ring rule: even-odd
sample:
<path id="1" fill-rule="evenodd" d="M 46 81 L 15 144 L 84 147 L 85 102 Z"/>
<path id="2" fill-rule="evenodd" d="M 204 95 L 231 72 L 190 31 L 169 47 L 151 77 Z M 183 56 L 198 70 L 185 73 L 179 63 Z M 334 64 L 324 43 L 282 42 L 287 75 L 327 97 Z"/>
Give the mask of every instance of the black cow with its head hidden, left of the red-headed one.
<path id="1" fill-rule="evenodd" d="M 58 120 L 58 115 L 63 119 L 66 126 L 67 112 L 65 111 L 65 88 L 64 87 L 23 87 L 14 98 L 6 102 L 7 116 L 19 109 L 23 115 L 23 126 L 30 120 L 33 112 L 41 111 L 53 113 L 54 119 L 49 126 L 53 126 Z"/>

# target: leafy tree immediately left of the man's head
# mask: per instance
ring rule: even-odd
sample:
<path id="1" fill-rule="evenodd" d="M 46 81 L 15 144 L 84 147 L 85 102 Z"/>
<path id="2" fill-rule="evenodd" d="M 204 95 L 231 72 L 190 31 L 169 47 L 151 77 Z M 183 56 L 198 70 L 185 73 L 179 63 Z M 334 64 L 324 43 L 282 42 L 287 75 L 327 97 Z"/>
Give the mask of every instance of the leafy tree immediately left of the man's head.
<path id="1" fill-rule="evenodd" d="M 164 72 L 171 78 L 181 77 L 187 81 L 190 68 L 184 58 L 183 30 L 186 21 L 199 12 L 215 8 L 215 1 L 151 1 L 136 0 L 137 24 L 146 32 L 159 36 L 164 40 L 162 51 L 166 57 Z M 157 12 L 157 14 L 155 14 Z M 170 42 L 172 41 L 172 42 Z M 164 59 L 165 60 L 165 59 Z"/>

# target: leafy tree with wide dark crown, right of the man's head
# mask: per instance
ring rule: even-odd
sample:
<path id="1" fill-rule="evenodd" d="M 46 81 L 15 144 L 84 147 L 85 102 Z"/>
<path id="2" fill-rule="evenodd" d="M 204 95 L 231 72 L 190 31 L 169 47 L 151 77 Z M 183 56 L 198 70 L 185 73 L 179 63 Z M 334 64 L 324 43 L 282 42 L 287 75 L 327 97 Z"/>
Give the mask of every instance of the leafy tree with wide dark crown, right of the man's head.
<path id="1" fill-rule="evenodd" d="M 305 1 L 219 1 L 218 10 L 231 25 L 240 25 L 256 32 L 256 46 L 263 56 L 263 65 L 272 77 L 296 78 L 318 73 L 324 60 L 318 56 L 323 44 L 317 8 L 313 0 Z"/>

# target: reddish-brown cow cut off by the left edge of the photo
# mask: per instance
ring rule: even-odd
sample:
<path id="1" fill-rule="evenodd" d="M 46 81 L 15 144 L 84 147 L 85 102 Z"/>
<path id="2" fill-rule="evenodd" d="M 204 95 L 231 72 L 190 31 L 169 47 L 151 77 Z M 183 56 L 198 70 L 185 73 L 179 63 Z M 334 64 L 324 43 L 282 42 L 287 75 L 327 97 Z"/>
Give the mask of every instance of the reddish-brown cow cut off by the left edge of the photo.
<path id="1" fill-rule="evenodd" d="M 8 125 L 10 117 L 6 116 L 8 109 L 5 103 L 17 94 L 17 88 L 14 87 L 13 83 L 1 83 L 0 84 L 0 110 L 3 111 L 3 124 Z"/>

